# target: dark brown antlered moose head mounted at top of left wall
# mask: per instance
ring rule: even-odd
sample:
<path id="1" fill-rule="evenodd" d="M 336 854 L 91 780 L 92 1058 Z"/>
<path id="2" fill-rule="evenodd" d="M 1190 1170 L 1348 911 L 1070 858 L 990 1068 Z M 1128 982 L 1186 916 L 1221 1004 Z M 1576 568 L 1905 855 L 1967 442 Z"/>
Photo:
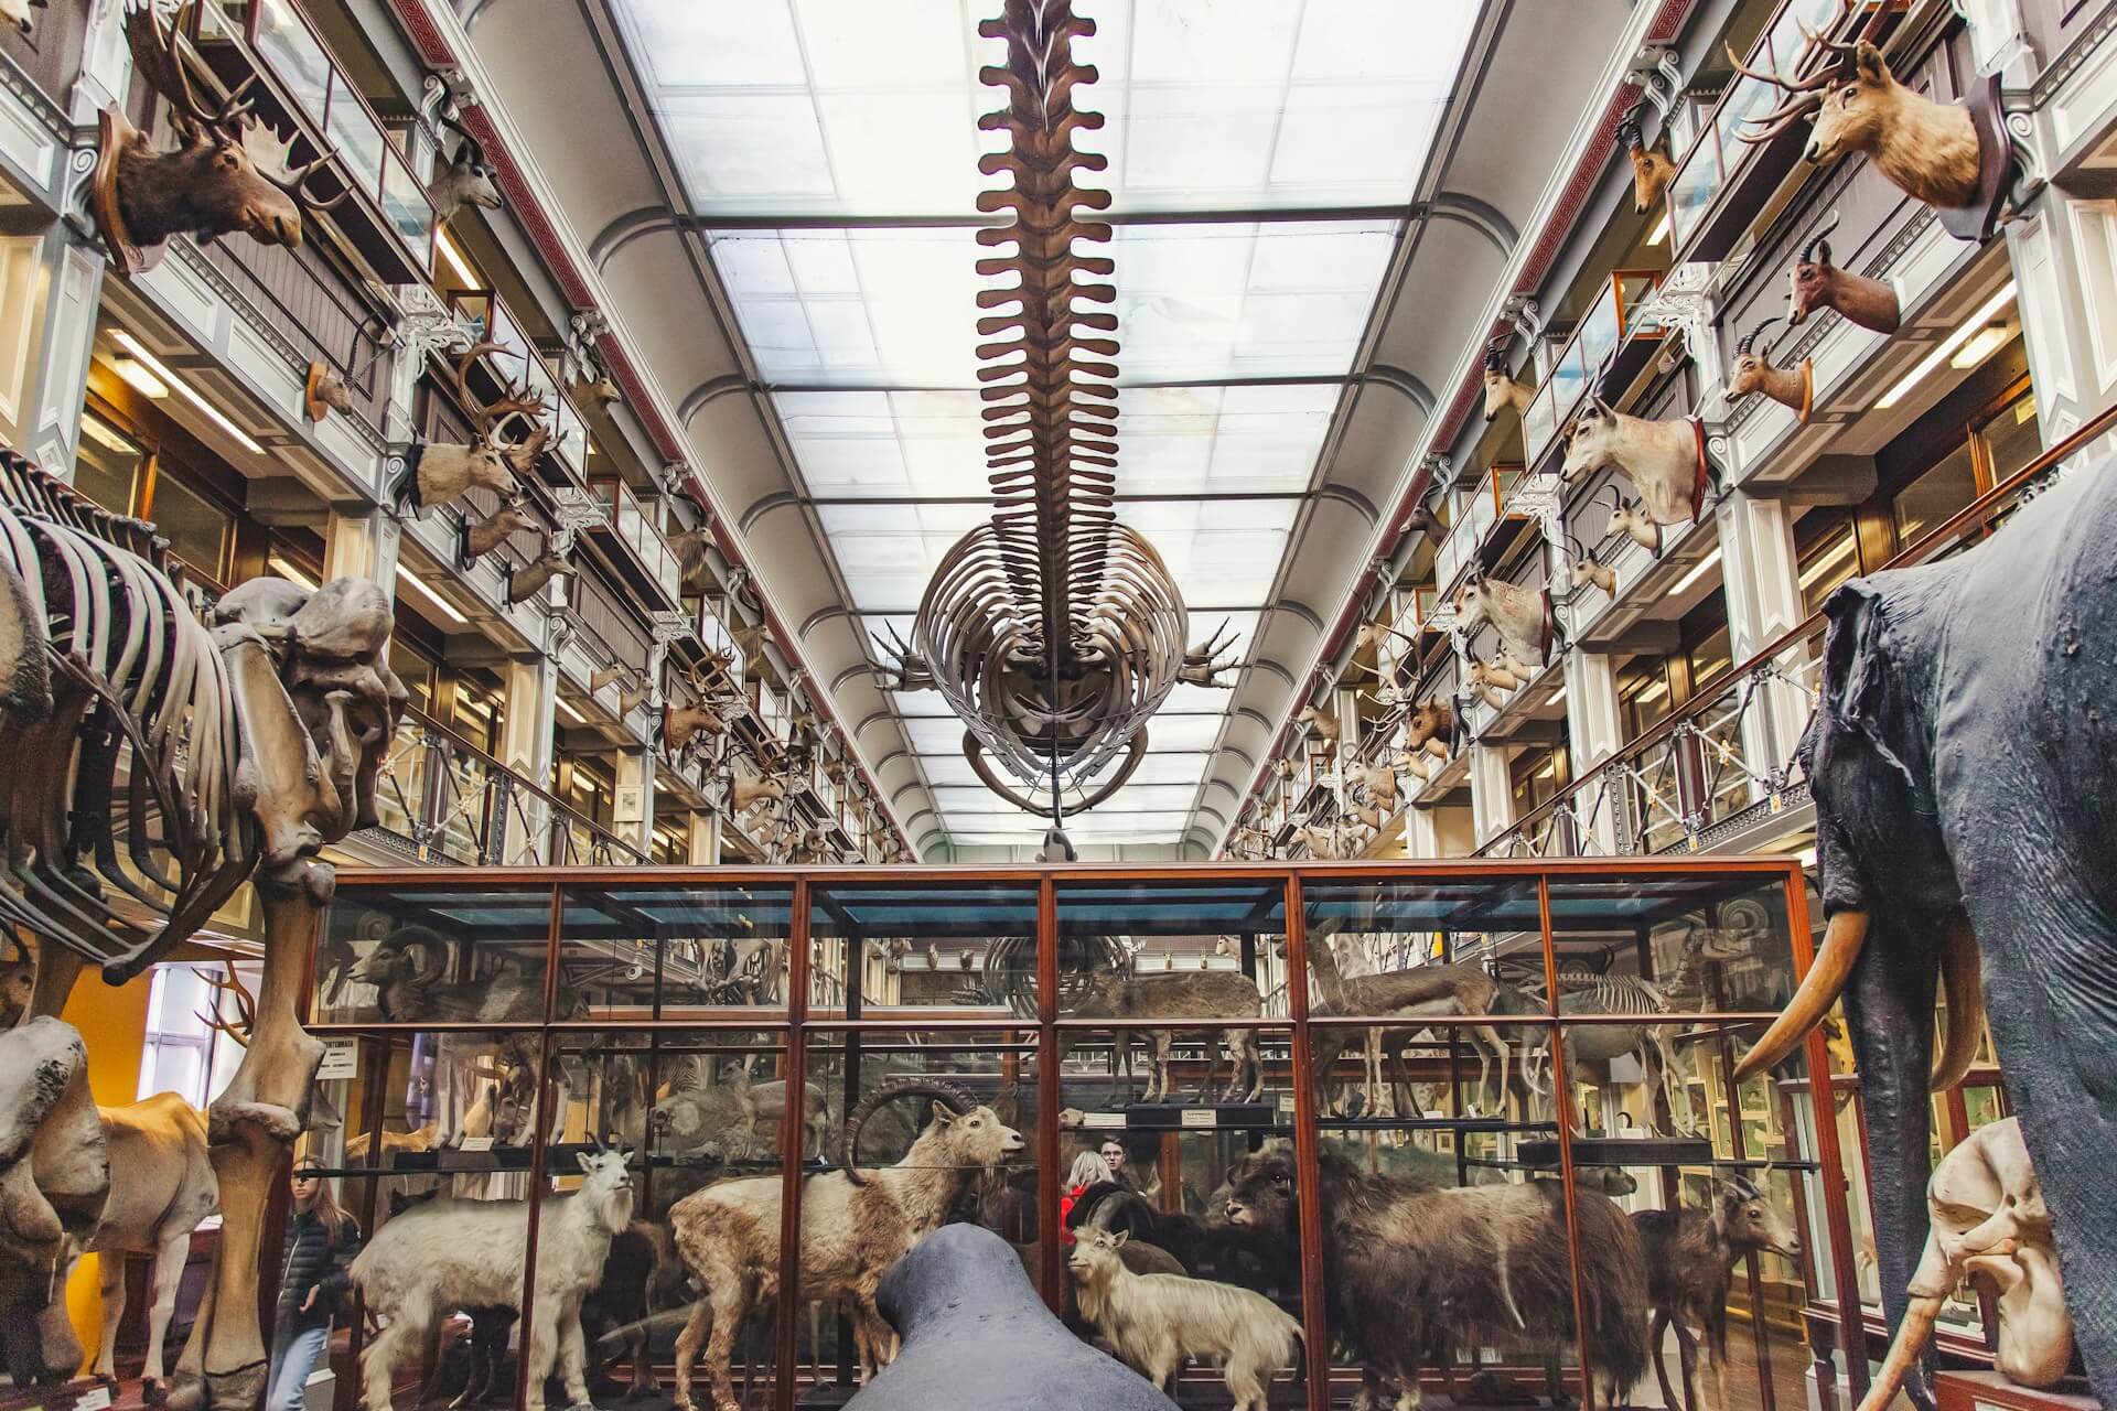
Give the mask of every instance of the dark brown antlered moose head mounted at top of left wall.
<path id="1" fill-rule="evenodd" d="M 279 138 L 250 112 L 250 78 L 207 106 L 191 85 L 176 47 L 176 32 L 191 21 L 197 0 L 184 0 L 174 28 L 157 4 L 125 15 L 125 42 L 148 85 L 169 99 L 176 148 L 155 150 L 148 135 L 104 108 L 89 209 L 119 273 L 131 277 L 161 258 L 171 235 L 250 235 L 263 245 L 298 245 L 301 214 L 324 212 L 349 195 L 318 199 L 309 178 L 337 161 L 324 150 L 294 165 L 294 138 Z"/>

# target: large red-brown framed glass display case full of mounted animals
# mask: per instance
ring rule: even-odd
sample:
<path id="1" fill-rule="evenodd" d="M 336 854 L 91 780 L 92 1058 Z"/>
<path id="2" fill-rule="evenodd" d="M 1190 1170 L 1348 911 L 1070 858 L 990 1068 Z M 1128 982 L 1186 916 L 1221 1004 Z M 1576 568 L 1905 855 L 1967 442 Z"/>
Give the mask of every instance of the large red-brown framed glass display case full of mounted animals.
<path id="1" fill-rule="evenodd" d="M 622 1151 L 644 1244 L 589 1290 L 586 1337 L 629 1354 L 601 1390 L 631 1358 L 667 1383 L 688 1328 L 701 1407 L 857 1381 L 889 1345 L 874 1280 L 942 1223 L 1012 1246 L 1090 1341 L 1084 1290 L 1130 1259 L 1243 1290 L 1336 1350 L 1289 1343 L 1283 1405 L 1609 1379 L 1653 1405 L 1683 1339 L 1626 1250 L 1753 1204 L 1778 1238 L 1685 1316 L 1732 1324 L 1730 1405 L 1774 1407 L 1827 1356 L 1819 1312 L 1871 1293 L 1846 1130 L 1812 1115 L 1842 1079 L 1732 1081 L 1808 956 L 1787 859 L 347 869 L 309 1013 L 345 1117 L 315 1153 L 387 1231 L 436 1189 L 529 1229 Z M 891 1214 L 847 1254 L 872 1189 Z M 447 1337 L 404 1356 L 400 1386 L 468 1375 Z"/>

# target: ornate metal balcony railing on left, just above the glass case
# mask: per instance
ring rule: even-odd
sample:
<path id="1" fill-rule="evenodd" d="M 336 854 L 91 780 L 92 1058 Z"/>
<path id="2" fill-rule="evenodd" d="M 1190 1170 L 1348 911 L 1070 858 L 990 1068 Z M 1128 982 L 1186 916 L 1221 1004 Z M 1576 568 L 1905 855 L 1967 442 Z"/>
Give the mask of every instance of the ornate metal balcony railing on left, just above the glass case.
<path id="1" fill-rule="evenodd" d="M 629 865 L 646 855 L 561 804 L 440 721 L 404 711 L 366 838 L 421 863 L 457 867 Z"/>

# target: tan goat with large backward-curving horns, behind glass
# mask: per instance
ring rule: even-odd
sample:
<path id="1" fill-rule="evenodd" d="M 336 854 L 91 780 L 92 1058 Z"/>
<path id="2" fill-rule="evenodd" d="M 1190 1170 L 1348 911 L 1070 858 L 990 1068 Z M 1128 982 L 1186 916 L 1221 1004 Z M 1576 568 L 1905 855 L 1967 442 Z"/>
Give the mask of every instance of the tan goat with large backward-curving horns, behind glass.
<path id="1" fill-rule="evenodd" d="M 936 1098 L 934 1121 L 895 1166 L 860 1168 L 860 1128 L 885 1102 L 910 1096 Z M 845 1170 L 802 1185 L 800 1295 L 851 1305 L 866 1381 L 868 1364 L 887 1362 L 895 1345 L 874 1305 L 883 1273 L 940 1229 L 974 1174 L 1023 1151 L 1023 1134 L 959 1087 L 910 1079 L 862 1098 L 845 1119 L 843 1142 Z M 675 1339 L 675 1405 L 684 1411 L 692 1411 L 690 1364 L 701 1343 L 713 1407 L 739 1411 L 728 1364 L 743 1318 L 779 1295 L 779 1176 L 722 1180 L 669 1208 L 675 1248 L 703 1293 Z"/>

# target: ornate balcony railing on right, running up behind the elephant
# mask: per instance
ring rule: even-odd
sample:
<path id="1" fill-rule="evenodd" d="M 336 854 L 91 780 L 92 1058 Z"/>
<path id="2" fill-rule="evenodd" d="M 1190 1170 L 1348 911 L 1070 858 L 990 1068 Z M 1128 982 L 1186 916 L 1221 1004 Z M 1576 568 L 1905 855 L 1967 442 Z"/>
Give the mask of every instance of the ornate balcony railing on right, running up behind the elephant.
<path id="1" fill-rule="evenodd" d="M 2117 425 L 2117 406 L 2001 480 L 1890 558 L 1884 569 L 1948 558 L 1975 544 L 2022 501 L 2024 487 L 2085 451 Z M 1668 719 L 1495 833 L 1478 857 L 1577 857 L 1698 850 L 1708 829 L 1802 802 L 1808 781 L 1793 757 L 1787 694 L 1814 704 L 1823 660 L 1823 613 L 1747 662 L 1706 681 Z"/>

